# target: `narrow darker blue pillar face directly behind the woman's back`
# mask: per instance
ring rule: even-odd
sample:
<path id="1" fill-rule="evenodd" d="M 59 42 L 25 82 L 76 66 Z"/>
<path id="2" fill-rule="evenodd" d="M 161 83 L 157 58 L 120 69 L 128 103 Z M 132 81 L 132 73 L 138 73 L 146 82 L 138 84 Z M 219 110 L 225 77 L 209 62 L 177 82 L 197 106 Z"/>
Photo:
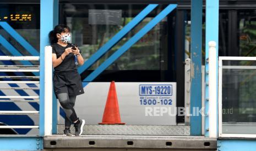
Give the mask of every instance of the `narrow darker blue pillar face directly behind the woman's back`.
<path id="1" fill-rule="evenodd" d="M 58 0 L 53 0 L 53 28 L 59 24 L 59 20 L 58 20 L 58 11 L 59 11 L 59 7 L 58 7 L 59 1 Z M 54 94 L 54 92 L 52 91 L 52 94 Z M 52 133 L 56 134 L 57 133 L 57 116 L 59 113 L 57 113 L 57 99 L 56 96 L 53 95 L 52 96 Z"/>

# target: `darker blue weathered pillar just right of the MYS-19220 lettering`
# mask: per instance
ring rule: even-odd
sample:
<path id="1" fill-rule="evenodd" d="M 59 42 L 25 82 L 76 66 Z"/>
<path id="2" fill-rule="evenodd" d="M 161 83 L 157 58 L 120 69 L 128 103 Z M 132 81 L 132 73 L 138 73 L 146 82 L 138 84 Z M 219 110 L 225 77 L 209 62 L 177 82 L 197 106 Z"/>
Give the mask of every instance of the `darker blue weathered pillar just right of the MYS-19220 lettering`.
<path id="1" fill-rule="evenodd" d="M 191 1 L 191 88 L 190 114 L 201 109 L 201 45 L 203 0 Z M 197 110 L 195 110 L 197 111 Z M 190 135 L 201 135 L 201 115 L 190 117 Z"/>

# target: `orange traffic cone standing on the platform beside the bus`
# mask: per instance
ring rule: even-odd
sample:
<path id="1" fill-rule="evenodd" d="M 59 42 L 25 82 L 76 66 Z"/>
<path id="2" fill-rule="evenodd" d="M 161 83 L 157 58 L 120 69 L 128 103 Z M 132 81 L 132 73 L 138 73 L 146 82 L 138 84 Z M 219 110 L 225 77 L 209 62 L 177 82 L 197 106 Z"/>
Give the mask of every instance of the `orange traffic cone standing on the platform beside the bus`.
<path id="1" fill-rule="evenodd" d="M 110 90 L 107 95 L 107 102 L 102 118 L 102 123 L 99 124 L 125 124 L 121 123 L 119 106 L 117 101 L 115 82 L 111 82 Z"/>

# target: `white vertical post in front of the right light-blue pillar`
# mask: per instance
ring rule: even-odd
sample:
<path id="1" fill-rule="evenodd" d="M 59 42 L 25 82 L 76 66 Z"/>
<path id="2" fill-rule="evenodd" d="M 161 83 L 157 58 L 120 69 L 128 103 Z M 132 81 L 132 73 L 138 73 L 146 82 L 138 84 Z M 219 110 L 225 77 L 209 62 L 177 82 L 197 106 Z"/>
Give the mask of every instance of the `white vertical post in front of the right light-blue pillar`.
<path id="1" fill-rule="evenodd" d="M 209 42 L 209 137 L 217 137 L 217 72 L 216 42 Z"/>

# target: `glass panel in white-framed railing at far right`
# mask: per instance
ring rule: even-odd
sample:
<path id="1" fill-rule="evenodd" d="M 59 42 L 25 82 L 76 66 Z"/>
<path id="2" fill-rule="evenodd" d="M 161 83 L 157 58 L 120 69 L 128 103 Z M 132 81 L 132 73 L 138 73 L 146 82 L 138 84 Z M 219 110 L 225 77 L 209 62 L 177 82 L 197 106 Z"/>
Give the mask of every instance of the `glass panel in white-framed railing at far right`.
<path id="1" fill-rule="evenodd" d="M 255 75 L 255 61 L 223 61 L 222 133 L 256 134 Z"/>

